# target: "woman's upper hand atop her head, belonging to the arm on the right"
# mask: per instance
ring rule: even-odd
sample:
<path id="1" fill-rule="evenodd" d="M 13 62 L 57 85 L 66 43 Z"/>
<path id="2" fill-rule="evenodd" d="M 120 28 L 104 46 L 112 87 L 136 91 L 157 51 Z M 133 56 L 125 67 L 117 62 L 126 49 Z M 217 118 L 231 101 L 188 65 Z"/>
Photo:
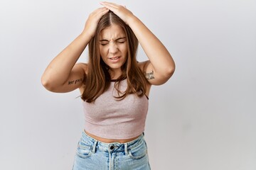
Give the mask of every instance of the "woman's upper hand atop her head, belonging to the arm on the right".
<path id="1" fill-rule="evenodd" d="M 100 2 L 100 4 L 102 4 L 102 6 L 105 6 L 105 8 L 110 9 L 110 11 L 119 16 L 119 18 L 121 18 L 122 21 L 124 21 L 124 23 L 126 23 L 129 26 L 129 22 L 134 17 L 134 14 L 131 11 L 129 11 L 125 6 L 121 6 L 106 1 Z"/>

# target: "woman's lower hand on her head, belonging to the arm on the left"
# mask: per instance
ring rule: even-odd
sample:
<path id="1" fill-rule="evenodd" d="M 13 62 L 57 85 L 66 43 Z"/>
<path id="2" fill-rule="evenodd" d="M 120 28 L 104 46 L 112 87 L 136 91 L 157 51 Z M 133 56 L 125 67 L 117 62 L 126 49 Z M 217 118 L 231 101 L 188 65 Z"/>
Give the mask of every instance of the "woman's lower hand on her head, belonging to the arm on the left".
<path id="1" fill-rule="evenodd" d="M 82 34 L 85 33 L 87 36 L 89 35 L 92 38 L 95 35 L 97 24 L 100 21 L 100 18 L 110 11 L 108 8 L 97 8 L 95 11 L 90 13 L 87 21 L 85 23 L 85 28 L 82 31 Z"/>

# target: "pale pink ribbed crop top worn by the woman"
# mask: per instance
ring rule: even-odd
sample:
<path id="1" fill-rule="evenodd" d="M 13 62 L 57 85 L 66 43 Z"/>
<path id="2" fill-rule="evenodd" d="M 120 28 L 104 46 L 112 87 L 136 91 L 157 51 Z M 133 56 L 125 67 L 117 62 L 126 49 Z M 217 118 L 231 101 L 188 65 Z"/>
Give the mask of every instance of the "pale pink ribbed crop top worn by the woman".
<path id="1" fill-rule="evenodd" d="M 127 79 L 120 81 L 121 91 L 127 89 Z M 82 102 L 85 113 L 85 130 L 106 139 L 124 140 L 144 132 L 149 100 L 146 96 L 129 94 L 117 101 L 117 90 L 111 81 L 110 88 L 95 102 Z"/>

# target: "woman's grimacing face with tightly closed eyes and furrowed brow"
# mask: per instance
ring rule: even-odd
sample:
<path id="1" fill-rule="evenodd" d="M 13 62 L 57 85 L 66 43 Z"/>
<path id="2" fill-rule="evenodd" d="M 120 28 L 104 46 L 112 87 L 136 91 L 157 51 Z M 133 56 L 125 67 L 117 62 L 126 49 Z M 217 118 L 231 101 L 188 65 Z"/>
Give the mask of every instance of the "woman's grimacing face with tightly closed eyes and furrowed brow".
<path id="1" fill-rule="evenodd" d="M 110 67 L 110 74 L 120 74 L 127 60 L 127 38 L 121 26 L 112 24 L 100 33 L 100 55 Z"/>

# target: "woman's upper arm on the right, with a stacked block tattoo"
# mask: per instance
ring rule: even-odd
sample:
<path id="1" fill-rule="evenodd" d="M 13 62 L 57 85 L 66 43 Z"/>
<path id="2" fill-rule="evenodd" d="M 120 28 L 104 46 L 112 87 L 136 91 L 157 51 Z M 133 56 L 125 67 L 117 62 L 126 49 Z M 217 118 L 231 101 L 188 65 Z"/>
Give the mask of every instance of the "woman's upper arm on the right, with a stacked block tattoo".
<path id="1" fill-rule="evenodd" d="M 166 81 L 169 80 L 170 76 L 164 76 L 164 74 L 159 74 L 154 69 L 153 65 L 149 60 L 145 62 L 139 62 L 139 67 L 142 69 L 142 72 L 144 73 L 147 81 L 151 85 L 161 85 L 164 84 Z M 169 74 L 166 74 L 169 75 Z"/>

